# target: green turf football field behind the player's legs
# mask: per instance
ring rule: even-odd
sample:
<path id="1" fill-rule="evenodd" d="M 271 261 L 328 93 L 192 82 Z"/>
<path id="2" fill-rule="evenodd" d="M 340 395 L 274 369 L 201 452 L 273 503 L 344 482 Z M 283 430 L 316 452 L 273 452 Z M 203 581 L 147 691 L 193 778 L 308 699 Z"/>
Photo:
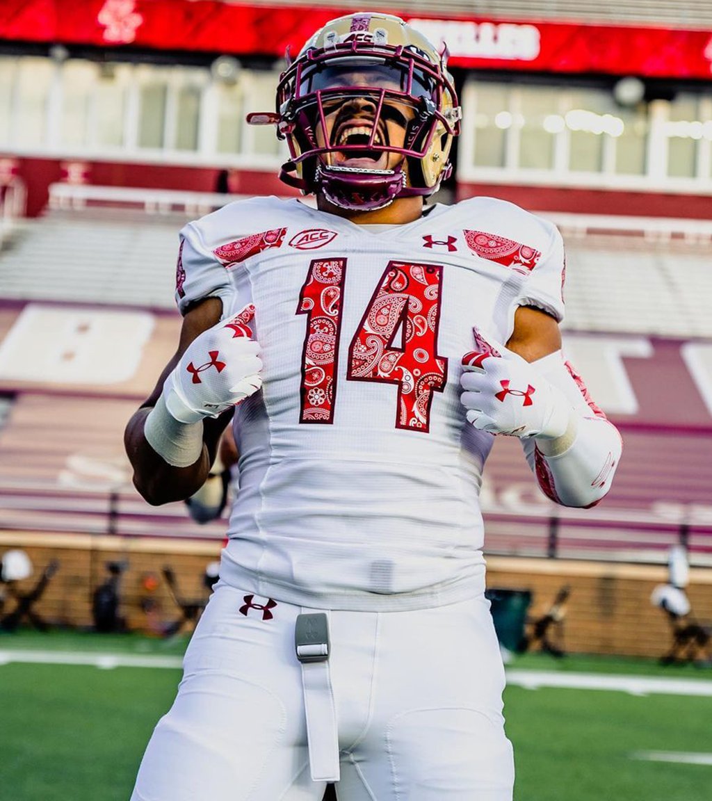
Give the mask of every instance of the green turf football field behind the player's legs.
<path id="1" fill-rule="evenodd" d="M 186 642 L 0 635 L 0 798 L 128 801 L 143 747 L 171 704 Z M 111 654 L 164 666 L 117 666 Z M 73 658 L 99 667 L 65 663 Z M 508 671 L 516 801 L 712 798 L 712 668 L 527 654 Z M 573 686 L 522 686 L 542 676 Z M 626 689 L 576 687 L 595 681 Z"/>

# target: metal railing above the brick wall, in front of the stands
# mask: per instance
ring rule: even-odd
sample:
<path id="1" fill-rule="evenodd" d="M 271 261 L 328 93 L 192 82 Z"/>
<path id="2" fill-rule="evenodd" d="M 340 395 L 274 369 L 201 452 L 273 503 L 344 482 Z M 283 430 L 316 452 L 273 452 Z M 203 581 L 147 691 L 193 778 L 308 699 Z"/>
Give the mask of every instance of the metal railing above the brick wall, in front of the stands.
<path id="1" fill-rule="evenodd" d="M 670 545 L 686 545 L 690 565 L 712 566 L 712 522 L 662 520 L 621 509 L 487 508 L 485 553 L 521 557 L 664 564 Z M 199 525 L 183 503 L 153 507 L 130 487 L 64 489 L 0 485 L 0 531 L 91 534 L 124 538 L 215 540 L 227 518 Z"/>

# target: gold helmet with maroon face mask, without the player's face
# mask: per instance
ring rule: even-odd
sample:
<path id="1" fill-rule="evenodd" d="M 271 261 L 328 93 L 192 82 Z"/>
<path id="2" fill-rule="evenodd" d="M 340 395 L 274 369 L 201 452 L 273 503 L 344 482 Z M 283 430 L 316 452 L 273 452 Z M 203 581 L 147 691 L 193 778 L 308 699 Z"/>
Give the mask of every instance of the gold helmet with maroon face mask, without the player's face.
<path id="1" fill-rule="evenodd" d="M 364 175 L 369 171 L 363 169 L 337 174 L 328 166 L 327 158 L 329 152 L 338 149 L 336 143 L 329 143 L 324 135 L 317 141 L 316 128 L 323 124 L 325 99 L 347 94 L 345 87 L 338 86 L 338 78 L 334 83 L 333 76 L 364 70 L 362 65 L 390 70 L 395 91 L 364 86 L 357 91 L 380 91 L 380 107 L 401 102 L 415 110 L 403 147 L 373 148 L 403 156 L 403 167 L 395 176 L 381 175 L 384 171 Z M 324 80 L 327 74 L 332 76 L 332 83 Z M 280 176 L 283 180 L 303 191 L 323 190 L 324 183 L 333 180 L 346 195 L 351 185 L 354 199 L 347 198 L 344 202 L 350 205 L 345 207 L 364 208 L 370 202 L 368 197 L 364 199 L 369 195 L 364 191 L 367 184 L 376 187 L 388 183 L 388 203 L 396 196 L 431 195 L 436 191 L 452 171 L 449 153 L 453 137 L 459 133 L 461 110 L 447 70 L 447 50 L 438 53 L 424 34 L 392 14 L 358 13 L 333 19 L 306 42 L 280 77 L 273 119 L 291 154 Z"/>

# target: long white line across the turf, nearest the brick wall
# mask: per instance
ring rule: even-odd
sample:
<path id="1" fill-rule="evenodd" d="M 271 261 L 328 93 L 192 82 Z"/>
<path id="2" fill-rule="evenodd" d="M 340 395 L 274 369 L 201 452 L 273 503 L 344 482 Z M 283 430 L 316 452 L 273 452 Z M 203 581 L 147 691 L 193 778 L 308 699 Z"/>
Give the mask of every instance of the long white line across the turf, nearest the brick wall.
<path id="1" fill-rule="evenodd" d="M 46 665 L 89 665 L 105 670 L 115 667 L 180 668 L 180 656 L 159 654 L 108 654 L 91 651 L 0 649 L 0 666 L 10 662 Z M 712 697 L 712 679 L 665 678 L 596 673 L 560 673 L 556 670 L 507 670 L 507 683 L 537 690 L 540 687 L 572 690 L 620 690 L 633 695 L 704 695 Z"/>

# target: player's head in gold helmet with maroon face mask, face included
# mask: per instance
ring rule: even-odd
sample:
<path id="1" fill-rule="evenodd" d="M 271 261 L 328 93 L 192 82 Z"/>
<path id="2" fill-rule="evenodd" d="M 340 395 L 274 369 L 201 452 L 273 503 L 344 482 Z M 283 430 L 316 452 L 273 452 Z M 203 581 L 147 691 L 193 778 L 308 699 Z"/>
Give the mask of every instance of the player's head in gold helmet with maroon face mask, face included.
<path id="1" fill-rule="evenodd" d="M 449 175 L 460 109 L 444 55 L 388 14 L 329 22 L 280 78 L 280 177 L 348 210 L 431 195 Z"/>

